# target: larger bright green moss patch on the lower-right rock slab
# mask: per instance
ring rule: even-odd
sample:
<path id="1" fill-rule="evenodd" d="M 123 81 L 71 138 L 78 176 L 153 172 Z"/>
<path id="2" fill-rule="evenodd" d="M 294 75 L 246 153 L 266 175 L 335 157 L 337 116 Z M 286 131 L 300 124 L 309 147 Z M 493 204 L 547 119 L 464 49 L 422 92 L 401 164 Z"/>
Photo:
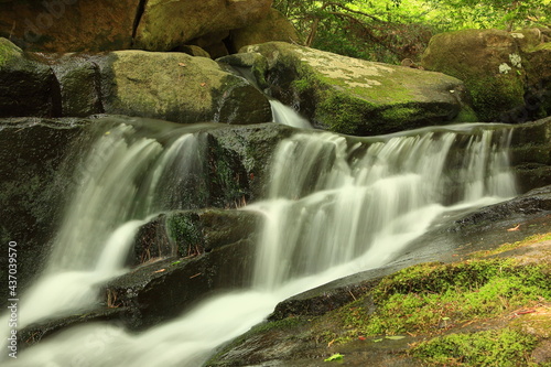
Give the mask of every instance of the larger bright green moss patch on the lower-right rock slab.
<path id="1" fill-rule="evenodd" d="M 421 265 L 385 278 L 339 317 L 349 338 L 433 333 L 550 298 L 550 268 L 501 259 Z"/>

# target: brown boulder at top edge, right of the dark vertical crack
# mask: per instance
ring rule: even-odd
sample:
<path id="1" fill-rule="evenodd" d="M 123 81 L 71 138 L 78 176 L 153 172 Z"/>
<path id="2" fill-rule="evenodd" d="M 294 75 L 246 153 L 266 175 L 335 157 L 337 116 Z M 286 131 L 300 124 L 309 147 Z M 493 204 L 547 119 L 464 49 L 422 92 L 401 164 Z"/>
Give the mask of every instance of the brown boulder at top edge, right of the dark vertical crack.
<path id="1" fill-rule="evenodd" d="M 172 50 L 209 33 L 253 23 L 268 14 L 270 6 L 271 0 L 151 0 L 143 8 L 134 46 Z"/>

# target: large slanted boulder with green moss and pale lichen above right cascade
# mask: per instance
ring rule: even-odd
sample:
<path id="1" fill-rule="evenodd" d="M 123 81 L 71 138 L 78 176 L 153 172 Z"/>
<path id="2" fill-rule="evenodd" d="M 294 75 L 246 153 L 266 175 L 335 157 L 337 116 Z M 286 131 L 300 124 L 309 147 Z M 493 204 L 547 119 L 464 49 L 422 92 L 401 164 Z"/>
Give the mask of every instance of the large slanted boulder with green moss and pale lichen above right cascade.
<path id="1" fill-rule="evenodd" d="M 372 136 L 457 120 L 468 116 L 463 84 L 440 73 L 371 63 L 282 42 L 244 47 L 261 54 L 253 73 L 285 105 L 299 107 L 316 127 Z M 250 55 L 233 55 L 242 58 Z M 267 67 L 262 71 L 263 67 Z"/>

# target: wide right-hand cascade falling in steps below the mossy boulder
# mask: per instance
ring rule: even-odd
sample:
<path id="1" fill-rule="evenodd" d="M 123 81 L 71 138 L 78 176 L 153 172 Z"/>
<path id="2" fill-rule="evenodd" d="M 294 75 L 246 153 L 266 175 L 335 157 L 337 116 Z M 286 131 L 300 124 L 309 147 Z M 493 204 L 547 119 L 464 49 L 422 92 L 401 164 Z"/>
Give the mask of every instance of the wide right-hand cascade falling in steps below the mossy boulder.
<path id="1" fill-rule="evenodd" d="M 446 168 L 454 143 L 465 139 L 464 161 Z M 257 287 L 274 289 L 364 257 L 372 261 L 366 253 L 375 242 L 401 238 L 404 244 L 450 209 L 444 204 L 452 184 L 463 198 L 457 205 L 514 196 L 509 139 L 510 131 L 483 130 L 395 136 L 352 148 L 345 137 L 327 132 L 283 141 L 272 164 L 270 199 L 253 206 L 269 218 L 256 263 Z M 387 246 L 377 258 L 383 262 L 396 250 Z"/>

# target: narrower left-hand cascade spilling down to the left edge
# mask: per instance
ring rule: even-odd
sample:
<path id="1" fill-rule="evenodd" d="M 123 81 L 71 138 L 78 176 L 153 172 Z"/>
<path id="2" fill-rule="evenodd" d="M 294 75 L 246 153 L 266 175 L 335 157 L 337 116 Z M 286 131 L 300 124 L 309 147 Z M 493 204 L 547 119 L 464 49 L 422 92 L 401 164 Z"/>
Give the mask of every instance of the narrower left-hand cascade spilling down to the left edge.
<path id="1" fill-rule="evenodd" d="M 154 214 L 185 208 L 203 176 L 202 137 L 176 136 L 166 147 L 130 125 L 105 131 L 75 172 L 77 190 L 42 277 L 21 301 L 19 326 L 97 301 L 97 284 L 125 272 L 137 230 Z M 37 306 L 40 305 L 40 306 Z"/>

